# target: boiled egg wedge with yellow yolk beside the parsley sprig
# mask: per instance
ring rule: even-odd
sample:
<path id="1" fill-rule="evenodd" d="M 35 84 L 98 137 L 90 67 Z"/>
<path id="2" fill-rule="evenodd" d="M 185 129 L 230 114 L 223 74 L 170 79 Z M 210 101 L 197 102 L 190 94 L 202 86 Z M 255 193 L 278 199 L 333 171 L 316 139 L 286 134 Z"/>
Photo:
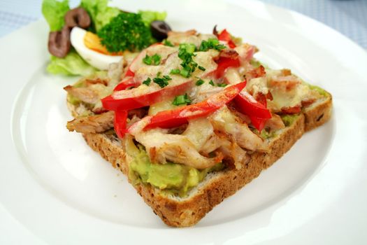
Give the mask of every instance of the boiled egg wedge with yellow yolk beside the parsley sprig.
<path id="1" fill-rule="evenodd" d="M 73 27 L 70 41 L 76 52 L 96 69 L 107 70 L 111 63 L 120 62 L 122 58 L 120 54 L 108 52 L 96 34 L 80 27 Z"/>

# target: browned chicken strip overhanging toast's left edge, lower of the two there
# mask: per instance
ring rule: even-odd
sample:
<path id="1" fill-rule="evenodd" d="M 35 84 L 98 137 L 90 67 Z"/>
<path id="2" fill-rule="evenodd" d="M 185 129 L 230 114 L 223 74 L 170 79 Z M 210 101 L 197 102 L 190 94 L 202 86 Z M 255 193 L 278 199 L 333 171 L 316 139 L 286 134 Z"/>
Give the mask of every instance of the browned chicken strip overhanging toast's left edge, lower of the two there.
<path id="1" fill-rule="evenodd" d="M 113 128 L 115 112 L 108 111 L 99 115 L 75 118 L 66 124 L 69 131 L 80 133 L 101 133 Z"/>

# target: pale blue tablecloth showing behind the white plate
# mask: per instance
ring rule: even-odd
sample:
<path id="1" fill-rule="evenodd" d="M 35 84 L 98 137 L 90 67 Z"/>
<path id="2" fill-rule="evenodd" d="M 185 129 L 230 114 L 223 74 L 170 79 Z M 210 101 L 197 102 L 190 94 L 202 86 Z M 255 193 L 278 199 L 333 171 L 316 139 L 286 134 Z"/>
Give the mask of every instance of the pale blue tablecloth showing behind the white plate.
<path id="1" fill-rule="evenodd" d="M 367 49 L 367 0 L 261 0 L 295 10 L 340 31 Z M 71 0 L 75 6 L 79 1 Z M 42 0 L 1 0 L 0 37 L 42 18 Z"/>

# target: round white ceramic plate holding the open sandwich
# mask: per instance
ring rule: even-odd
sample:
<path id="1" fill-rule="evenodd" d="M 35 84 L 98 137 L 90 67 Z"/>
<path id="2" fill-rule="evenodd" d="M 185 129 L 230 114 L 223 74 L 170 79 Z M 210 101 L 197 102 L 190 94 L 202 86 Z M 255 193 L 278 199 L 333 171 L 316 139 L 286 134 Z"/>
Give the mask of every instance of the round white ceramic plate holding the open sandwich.
<path id="1" fill-rule="evenodd" d="M 127 178 L 65 128 L 62 87 L 50 76 L 48 27 L 36 22 L 0 40 L 0 201 L 50 244 L 362 244 L 367 221 L 367 54 L 315 20 L 257 1 L 124 1 L 165 9 L 174 29 L 226 27 L 333 94 L 331 121 L 193 228 L 168 228 Z"/>

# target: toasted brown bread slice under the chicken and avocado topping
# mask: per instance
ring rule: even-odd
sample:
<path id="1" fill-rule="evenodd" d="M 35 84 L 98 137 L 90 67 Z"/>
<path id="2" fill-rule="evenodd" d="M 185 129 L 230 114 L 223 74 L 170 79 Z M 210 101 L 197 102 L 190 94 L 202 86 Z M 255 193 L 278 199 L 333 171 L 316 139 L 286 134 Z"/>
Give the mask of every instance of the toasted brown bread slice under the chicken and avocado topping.
<path id="1" fill-rule="evenodd" d="M 78 108 L 68 103 L 74 117 L 78 116 Z M 332 97 L 324 92 L 324 97 L 308 107 L 303 108 L 292 123 L 285 129 L 279 130 L 275 137 L 267 139 L 270 151 L 268 153 L 254 152 L 250 162 L 241 169 L 225 169 L 206 176 L 199 186 L 189 191 L 187 197 L 166 195 L 161 190 L 148 184 L 138 183 L 136 190 L 143 200 L 152 207 L 164 223 L 174 227 L 195 225 L 213 207 L 220 204 L 224 198 L 236 193 L 237 190 L 259 176 L 263 169 L 273 165 L 282 157 L 293 144 L 302 137 L 304 132 L 326 123 L 331 117 Z M 110 134 L 82 134 L 87 144 L 113 167 L 124 174 L 129 172 L 131 158 L 124 152 L 119 139 Z"/>

